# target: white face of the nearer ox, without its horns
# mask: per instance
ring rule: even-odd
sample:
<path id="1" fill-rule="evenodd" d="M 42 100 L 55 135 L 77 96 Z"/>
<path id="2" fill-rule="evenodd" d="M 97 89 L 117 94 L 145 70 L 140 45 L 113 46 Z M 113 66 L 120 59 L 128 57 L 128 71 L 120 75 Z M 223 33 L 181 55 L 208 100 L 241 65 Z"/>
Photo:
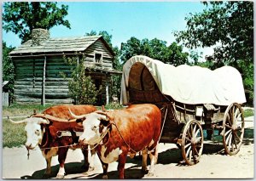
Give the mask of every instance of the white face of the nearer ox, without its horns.
<path id="1" fill-rule="evenodd" d="M 85 116 L 83 122 L 84 133 L 79 137 L 80 144 L 97 144 L 101 141 L 100 124 L 101 120 L 106 120 L 106 116 L 95 112 Z M 103 128 L 102 132 L 106 130 Z"/>

